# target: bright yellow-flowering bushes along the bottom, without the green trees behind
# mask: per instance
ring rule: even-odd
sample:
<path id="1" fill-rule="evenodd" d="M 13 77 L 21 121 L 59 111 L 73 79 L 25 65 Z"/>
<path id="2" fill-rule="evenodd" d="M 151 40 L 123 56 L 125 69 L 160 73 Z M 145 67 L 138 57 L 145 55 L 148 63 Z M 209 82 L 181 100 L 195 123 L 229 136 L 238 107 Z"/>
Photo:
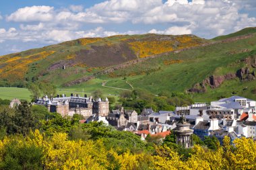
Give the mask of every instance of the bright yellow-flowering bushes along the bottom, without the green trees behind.
<path id="1" fill-rule="evenodd" d="M 216 151 L 195 145 L 186 161 L 168 146 L 146 151 L 118 153 L 104 141 L 69 140 L 66 133 L 46 136 L 39 130 L 0 141 L 0 169 L 255 169 L 256 143 L 250 138 L 224 138 Z"/>

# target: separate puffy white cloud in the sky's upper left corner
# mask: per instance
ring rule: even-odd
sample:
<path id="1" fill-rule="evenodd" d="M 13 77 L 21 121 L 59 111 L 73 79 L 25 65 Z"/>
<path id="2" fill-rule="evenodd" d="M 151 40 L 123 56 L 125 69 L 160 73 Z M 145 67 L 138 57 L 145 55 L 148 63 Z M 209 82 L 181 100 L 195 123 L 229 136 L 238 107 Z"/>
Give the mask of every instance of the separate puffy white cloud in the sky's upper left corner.
<path id="1" fill-rule="evenodd" d="M 53 7 L 32 6 L 20 8 L 7 17 L 11 22 L 49 22 L 53 19 Z"/>

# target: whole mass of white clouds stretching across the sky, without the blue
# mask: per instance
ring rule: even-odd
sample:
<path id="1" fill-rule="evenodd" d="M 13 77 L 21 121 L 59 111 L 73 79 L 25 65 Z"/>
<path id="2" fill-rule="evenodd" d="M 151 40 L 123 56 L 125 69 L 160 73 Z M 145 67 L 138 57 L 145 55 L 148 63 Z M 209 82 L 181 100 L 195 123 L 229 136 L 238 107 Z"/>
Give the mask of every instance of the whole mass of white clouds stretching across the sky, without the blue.
<path id="1" fill-rule="evenodd" d="M 253 7 L 255 3 L 251 2 Z M 162 0 L 109 0 L 88 9 L 80 5 L 71 5 L 68 9 L 54 9 L 50 6 L 24 7 L 6 17 L 9 22 L 21 22 L 20 29 L 0 29 L 0 40 L 54 44 L 82 37 L 146 32 L 102 28 L 107 24 L 112 24 L 115 28 L 115 24 L 120 26 L 119 23 L 129 24 L 129 28 L 133 25 L 146 26 L 145 29 L 152 29 L 150 33 L 156 34 L 196 34 L 203 38 L 212 38 L 256 26 L 256 18 L 241 13 L 241 9 L 245 7 L 240 4 L 238 0 L 168 0 L 166 3 L 162 3 Z M 84 26 L 89 24 L 98 27 L 85 29 Z"/>

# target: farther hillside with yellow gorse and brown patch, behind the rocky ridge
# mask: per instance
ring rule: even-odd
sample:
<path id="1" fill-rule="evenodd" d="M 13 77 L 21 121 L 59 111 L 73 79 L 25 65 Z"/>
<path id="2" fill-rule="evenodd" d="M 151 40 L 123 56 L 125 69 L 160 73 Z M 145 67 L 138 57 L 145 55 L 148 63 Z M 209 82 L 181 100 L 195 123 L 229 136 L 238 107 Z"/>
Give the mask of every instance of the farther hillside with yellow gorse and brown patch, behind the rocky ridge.
<path id="1" fill-rule="evenodd" d="M 81 38 L 0 56 L 0 80 L 15 82 L 36 81 L 39 77 L 51 79 L 47 75 L 65 67 L 68 71 L 59 71 L 57 74 L 64 77 L 68 75 L 68 81 L 71 81 L 129 60 L 199 46 L 205 42 L 207 40 L 193 35 L 144 34 Z"/>

